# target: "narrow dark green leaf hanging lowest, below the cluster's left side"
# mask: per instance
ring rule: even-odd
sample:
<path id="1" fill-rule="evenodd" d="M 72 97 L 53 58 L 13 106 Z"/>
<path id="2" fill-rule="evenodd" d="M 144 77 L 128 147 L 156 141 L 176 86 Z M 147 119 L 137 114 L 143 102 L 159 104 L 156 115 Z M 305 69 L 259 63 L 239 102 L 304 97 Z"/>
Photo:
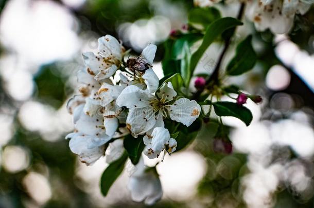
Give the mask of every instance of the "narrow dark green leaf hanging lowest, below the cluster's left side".
<path id="1" fill-rule="evenodd" d="M 110 165 L 104 170 L 100 179 L 100 190 L 103 196 L 107 196 L 108 191 L 114 181 L 119 177 L 124 169 L 124 165 L 128 159 L 128 154 L 126 152 L 123 155 L 110 163 Z"/>

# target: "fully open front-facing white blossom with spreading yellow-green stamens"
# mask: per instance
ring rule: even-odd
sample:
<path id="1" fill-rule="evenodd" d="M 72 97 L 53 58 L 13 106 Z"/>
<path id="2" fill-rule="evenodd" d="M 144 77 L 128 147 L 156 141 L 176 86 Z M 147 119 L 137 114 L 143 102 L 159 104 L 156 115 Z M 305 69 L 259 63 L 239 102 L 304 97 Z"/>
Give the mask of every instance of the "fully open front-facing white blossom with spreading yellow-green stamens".
<path id="1" fill-rule="evenodd" d="M 164 83 L 155 96 L 148 90 L 131 85 L 117 98 L 118 106 L 129 108 L 127 127 L 132 135 L 143 135 L 150 129 L 164 126 L 163 118 L 191 125 L 200 115 L 200 105 L 187 98 L 176 98 L 177 92 L 171 82 Z M 157 125 L 157 126 L 156 126 Z"/>

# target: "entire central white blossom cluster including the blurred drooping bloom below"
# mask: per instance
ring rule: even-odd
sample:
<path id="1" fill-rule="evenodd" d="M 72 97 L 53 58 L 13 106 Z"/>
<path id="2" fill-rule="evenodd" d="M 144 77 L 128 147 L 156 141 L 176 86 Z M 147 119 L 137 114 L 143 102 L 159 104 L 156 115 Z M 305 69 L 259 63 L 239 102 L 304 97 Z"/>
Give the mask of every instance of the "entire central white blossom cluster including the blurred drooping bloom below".
<path id="1" fill-rule="evenodd" d="M 106 35 L 98 39 L 98 50 L 97 54 L 83 53 L 86 67 L 77 74 L 83 86 L 67 104 L 75 126 L 75 131 L 66 136 L 72 152 L 87 165 L 105 154 L 112 162 L 117 160 L 114 154 L 121 156 L 124 152 L 121 141 L 129 134 L 134 140 L 143 138 L 143 153 L 149 158 L 159 157 L 163 150 L 175 152 L 177 141 L 170 137 L 164 119 L 189 126 L 200 115 L 201 107 L 194 100 L 179 97 L 171 82 L 159 86 L 152 69 L 156 46 L 149 44 L 140 56 L 125 62 L 124 47 Z M 159 184 L 161 190 L 159 179 L 143 167 L 132 175 L 130 187 L 142 183 L 142 179 L 155 180 L 152 183 Z M 144 200 L 145 196 L 136 195 L 137 189 L 132 198 Z M 156 193 L 147 195 L 147 203 L 161 198 L 162 192 Z"/>

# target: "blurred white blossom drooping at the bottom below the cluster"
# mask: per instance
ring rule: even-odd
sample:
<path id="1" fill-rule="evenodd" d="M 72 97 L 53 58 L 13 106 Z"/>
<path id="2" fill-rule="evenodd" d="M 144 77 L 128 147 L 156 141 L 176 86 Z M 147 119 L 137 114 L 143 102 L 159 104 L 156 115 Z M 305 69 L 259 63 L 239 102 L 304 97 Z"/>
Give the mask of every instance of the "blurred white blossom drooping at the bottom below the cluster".
<path id="1" fill-rule="evenodd" d="M 146 205 L 152 205 L 163 196 L 161 182 L 155 167 L 147 167 L 141 158 L 135 166 L 136 171 L 131 175 L 128 189 L 133 201 L 144 201 Z"/>

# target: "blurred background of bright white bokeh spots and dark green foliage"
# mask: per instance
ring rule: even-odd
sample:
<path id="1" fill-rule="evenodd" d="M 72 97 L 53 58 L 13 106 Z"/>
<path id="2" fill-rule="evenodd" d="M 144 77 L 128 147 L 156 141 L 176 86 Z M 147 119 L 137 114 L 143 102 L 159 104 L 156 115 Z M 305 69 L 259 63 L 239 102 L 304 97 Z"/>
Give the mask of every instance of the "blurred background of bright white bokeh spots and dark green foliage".
<path id="1" fill-rule="evenodd" d="M 239 5 L 216 7 L 236 16 Z M 130 199 L 127 171 L 101 196 L 108 164 L 102 158 L 85 166 L 71 153 L 65 105 L 78 93 L 81 53 L 97 50 L 106 34 L 134 54 L 158 45 L 154 71 L 162 78 L 164 42 L 193 8 L 179 0 L 0 0 L 0 207 L 144 206 Z M 166 157 L 157 166 L 164 195 L 155 207 L 314 206 L 314 9 L 295 17 L 289 35 L 257 32 L 243 21 L 232 47 L 252 33 L 258 63 L 226 83 L 264 101 L 246 104 L 249 127 L 224 119 L 232 155 L 213 152 L 218 126 L 208 122 L 193 144 Z M 211 73 L 222 46 L 207 49 L 196 73 Z"/>

